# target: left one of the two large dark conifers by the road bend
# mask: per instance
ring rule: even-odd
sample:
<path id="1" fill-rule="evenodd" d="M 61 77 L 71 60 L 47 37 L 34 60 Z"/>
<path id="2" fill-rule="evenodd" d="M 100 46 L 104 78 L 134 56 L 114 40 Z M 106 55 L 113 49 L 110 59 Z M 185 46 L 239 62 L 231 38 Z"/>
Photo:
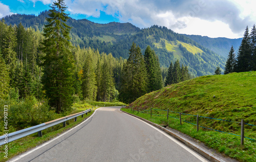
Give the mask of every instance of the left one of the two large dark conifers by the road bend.
<path id="1" fill-rule="evenodd" d="M 130 56 L 123 67 L 123 77 L 121 81 L 120 100 L 131 103 L 146 93 L 146 67 L 141 50 L 133 42 Z"/>

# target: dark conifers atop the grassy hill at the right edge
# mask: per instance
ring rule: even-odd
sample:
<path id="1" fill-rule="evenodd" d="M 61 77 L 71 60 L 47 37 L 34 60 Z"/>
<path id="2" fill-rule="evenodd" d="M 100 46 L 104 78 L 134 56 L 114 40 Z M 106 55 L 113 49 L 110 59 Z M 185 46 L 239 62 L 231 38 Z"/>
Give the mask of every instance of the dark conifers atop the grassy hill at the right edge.
<path id="1" fill-rule="evenodd" d="M 224 74 L 249 71 L 256 71 L 255 25 L 253 25 L 251 32 L 249 32 L 248 26 L 246 27 L 237 56 L 234 53 L 233 46 L 230 48 Z"/>

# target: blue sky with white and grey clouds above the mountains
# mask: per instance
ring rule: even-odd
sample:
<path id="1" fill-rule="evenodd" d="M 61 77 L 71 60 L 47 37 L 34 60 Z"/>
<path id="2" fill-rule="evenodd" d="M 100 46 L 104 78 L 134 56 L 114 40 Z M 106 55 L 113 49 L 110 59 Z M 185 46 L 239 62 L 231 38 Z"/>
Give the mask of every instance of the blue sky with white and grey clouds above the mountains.
<path id="1" fill-rule="evenodd" d="M 0 17 L 48 10 L 55 0 L 0 0 Z M 165 26 L 181 34 L 241 38 L 256 24 L 255 0 L 66 0 L 67 13 L 100 24 Z"/>

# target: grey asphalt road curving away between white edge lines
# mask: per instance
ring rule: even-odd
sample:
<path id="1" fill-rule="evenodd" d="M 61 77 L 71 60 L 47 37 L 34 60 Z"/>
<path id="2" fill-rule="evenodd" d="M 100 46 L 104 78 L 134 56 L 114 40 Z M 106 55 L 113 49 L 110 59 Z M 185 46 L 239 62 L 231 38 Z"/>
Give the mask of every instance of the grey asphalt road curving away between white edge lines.
<path id="1" fill-rule="evenodd" d="M 86 122 L 10 161 L 207 161 L 119 108 L 99 108 Z"/>

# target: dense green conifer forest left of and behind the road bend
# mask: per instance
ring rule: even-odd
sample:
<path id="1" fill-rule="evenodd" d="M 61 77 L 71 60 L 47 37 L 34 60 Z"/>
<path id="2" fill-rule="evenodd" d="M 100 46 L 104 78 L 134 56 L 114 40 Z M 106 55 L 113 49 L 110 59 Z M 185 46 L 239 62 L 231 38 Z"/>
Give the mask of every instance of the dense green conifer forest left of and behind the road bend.
<path id="1" fill-rule="evenodd" d="M 65 9 L 62 6 L 61 10 Z M 133 42 L 128 60 L 74 46 L 71 27 L 65 23 L 69 17 L 56 12 L 52 7 L 43 32 L 21 23 L 8 26 L 4 19 L 0 21 L 1 104 L 17 105 L 12 110 L 20 113 L 38 104 L 42 114 L 49 116 L 70 111 L 79 100 L 111 102 L 119 97 L 130 103 L 162 88 L 159 58 L 150 46 L 142 55 Z M 58 18 L 59 24 L 55 21 Z"/>

